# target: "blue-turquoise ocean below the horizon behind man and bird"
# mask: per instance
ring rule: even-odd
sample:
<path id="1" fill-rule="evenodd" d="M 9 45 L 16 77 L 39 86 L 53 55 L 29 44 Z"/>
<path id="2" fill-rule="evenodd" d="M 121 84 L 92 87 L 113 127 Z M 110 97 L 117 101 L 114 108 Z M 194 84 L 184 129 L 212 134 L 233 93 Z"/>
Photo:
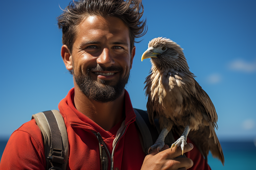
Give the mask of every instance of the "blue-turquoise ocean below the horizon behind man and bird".
<path id="1" fill-rule="evenodd" d="M 256 170 L 256 141 L 234 142 L 220 141 L 225 158 L 225 166 L 218 160 L 208 155 L 208 164 L 212 170 Z M 0 139 L 0 156 L 4 152 L 7 140 Z M 0 157 L 0 161 L 1 161 Z"/>

